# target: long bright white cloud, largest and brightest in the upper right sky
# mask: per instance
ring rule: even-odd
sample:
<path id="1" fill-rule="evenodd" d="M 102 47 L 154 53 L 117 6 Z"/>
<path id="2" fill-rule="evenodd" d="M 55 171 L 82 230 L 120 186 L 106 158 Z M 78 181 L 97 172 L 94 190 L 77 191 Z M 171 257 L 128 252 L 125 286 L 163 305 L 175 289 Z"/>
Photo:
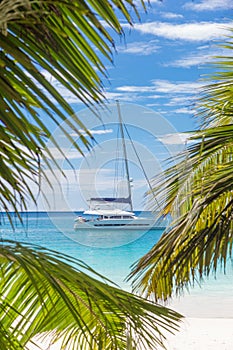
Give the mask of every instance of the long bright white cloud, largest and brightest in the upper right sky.
<path id="1" fill-rule="evenodd" d="M 171 40 L 208 41 L 221 38 L 229 32 L 232 23 L 196 22 L 171 24 L 168 22 L 149 22 L 135 24 L 134 28 L 143 34 L 152 34 Z"/>

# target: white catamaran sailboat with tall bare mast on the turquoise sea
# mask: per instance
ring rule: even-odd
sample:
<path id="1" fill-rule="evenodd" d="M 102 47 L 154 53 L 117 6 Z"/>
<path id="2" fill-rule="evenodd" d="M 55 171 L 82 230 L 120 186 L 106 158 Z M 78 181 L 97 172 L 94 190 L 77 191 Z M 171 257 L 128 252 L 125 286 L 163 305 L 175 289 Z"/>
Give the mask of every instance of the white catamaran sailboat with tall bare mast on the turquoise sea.
<path id="1" fill-rule="evenodd" d="M 117 102 L 119 127 L 122 140 L 123 159 L 126 172 L 127 197 L 93 197 L 90 198 L 89 209 L 83 212 L 83 215 L 75 219 L 74 229 L 76 231 L 83 229 L 113 229 L 113 230 L 150 230 L 163 229 L 162 225 L 155 223 L 152 216 L 137 216 L 133 211 L 132 203 L 132 179 L 129 175 L 129 165 L 127 160 L 127 149 L 125 144 L 125 135 L 123 120 L 120 111 L 119 102 Z M 122 210 L 119 206 L 129 206 L 129 210 Z"/>

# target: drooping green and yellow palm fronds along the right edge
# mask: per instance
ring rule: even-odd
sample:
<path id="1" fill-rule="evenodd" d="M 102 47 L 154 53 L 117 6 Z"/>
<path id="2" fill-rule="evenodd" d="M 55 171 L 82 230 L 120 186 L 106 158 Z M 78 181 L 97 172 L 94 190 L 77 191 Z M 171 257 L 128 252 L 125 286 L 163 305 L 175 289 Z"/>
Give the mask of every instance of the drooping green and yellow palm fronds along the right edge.
<path id="1" fill-rule="evenodd" d="M 227 47 L 232 50 L 232 42 Z M 215 65 L 221 71 L 199 101 L 202 129 L 177 164 L 155 180 L 154 195 L 162 199 L 162 213 L 172 215 L 171 226 L 130 276 L 136 290 L 155 299 L 180 294 L 218 266 L 225 268 L 232 254 L 232 57 Z"/>

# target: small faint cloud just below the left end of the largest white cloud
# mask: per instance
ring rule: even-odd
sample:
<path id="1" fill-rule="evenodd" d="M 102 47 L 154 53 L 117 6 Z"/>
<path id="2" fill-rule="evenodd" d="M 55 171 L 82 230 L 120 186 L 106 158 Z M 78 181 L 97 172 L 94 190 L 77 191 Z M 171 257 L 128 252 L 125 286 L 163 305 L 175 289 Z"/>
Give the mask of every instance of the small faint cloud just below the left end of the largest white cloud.
<path id="1" fill-rule="evenodd" d="M 127 44 L 126 46 L 118 47 L 118 51 L 126 54 L 147 56 L 157 52 L 160 46 L 155 44 L 155 41 L 149 42 L 139 41 Z"/>

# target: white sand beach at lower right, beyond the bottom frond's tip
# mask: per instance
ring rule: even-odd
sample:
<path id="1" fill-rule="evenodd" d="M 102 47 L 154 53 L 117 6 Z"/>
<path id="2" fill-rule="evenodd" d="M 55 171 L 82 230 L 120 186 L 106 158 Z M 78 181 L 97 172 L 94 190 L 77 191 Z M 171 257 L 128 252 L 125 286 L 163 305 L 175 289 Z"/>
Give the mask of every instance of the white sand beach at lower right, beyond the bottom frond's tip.
<path id="1" fill-rule="evenodd" d="M 213 295 L 190 294 L 168 305 L 185 318 L 180 332 L 166 333 L 167 350 L 233 350 L 233 296 Z M 60 344 L 43 343 L 42 349 L 60 350 Z"/>

